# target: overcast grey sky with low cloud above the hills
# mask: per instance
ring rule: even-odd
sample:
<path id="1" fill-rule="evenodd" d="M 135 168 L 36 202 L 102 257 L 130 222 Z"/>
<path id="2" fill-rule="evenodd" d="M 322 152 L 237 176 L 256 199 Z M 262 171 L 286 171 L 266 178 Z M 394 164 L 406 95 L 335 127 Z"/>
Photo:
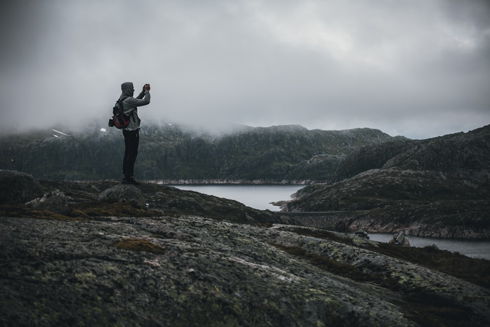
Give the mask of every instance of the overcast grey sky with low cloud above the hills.
<path id="1" fill-rule="evenodd" d="M 0 127 L 298 124 L 429 138 L 490 124 L 488 0 L 15 0 Z M 79 123 L 78 123 L 79 124 Z"/>

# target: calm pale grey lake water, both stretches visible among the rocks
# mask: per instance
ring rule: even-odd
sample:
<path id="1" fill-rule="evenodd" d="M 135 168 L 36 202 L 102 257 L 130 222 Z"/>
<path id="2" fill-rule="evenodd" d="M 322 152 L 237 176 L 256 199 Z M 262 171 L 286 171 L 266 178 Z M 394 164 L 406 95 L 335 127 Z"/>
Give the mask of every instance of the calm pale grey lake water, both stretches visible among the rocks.
<path id="1" fill-rule="evenodd" d="M 291 200 L 291 195 L 304 185 L 283 184 L 186 184 L 172 185 L 181 190 L 191 190 L 220 198 L 236 200 L 245 205 L 270 211 L 279 211 L 279 207 L 270 202 Z M 369 238 L 378 242 L 388 242 L 393 234 L 369 233 Z M 438 239 L 431 237 L 408 236 L 410 245 L 423 248 L 435 244 L 441 250 L 460 252 L 471 257 L 490 260 L 490 241 L 466 239 Z"/>

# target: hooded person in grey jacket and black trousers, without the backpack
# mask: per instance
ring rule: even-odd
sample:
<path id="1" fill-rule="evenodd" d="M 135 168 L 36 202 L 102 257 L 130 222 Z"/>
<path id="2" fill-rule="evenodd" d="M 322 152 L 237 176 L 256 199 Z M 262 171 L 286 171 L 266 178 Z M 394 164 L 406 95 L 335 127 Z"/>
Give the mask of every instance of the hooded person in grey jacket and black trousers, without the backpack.
<path id="1" fill-rule="evenodd" d="M 124 158 L 123 158 L 123 184 L 139 185 L 134 179 L 134 162 L 138 156 L 138 146 L 140 144 L 140 123 L 138 108 L 150 103 L 150 84 L 143 86 L 143 91 L 133 98 L 134 86 L 131 82 L 121 84 L 120 100 L 123 100 L 123 114 L 129 116 L 129 124 L 123 128 L 124 135 Z"/>

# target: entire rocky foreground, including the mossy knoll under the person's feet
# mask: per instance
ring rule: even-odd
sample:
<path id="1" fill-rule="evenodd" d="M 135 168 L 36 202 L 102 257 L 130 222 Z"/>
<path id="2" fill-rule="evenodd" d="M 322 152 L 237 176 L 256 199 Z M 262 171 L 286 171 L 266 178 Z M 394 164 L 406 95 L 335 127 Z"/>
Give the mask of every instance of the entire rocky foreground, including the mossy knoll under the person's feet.
<path id="1" fill-rule="evenodd" d="M 488 260 L 171 187 L 36 183 L 70 211 L 0 192 L 1 326 L 490 324 Z"/>

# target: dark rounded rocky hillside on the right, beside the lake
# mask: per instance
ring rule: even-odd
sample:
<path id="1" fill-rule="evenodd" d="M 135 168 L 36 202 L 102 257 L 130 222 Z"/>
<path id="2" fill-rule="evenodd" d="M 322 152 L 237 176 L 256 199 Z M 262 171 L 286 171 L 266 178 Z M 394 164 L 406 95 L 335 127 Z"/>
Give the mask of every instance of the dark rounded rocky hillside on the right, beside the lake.
<path id="1" fill-rule="evenodd" d="M 490 237 L 490 126 L 368 146 L 348 155 L 333 179 L 300 190 L 287 209 L 367 210 L 338 228 Z"/>

